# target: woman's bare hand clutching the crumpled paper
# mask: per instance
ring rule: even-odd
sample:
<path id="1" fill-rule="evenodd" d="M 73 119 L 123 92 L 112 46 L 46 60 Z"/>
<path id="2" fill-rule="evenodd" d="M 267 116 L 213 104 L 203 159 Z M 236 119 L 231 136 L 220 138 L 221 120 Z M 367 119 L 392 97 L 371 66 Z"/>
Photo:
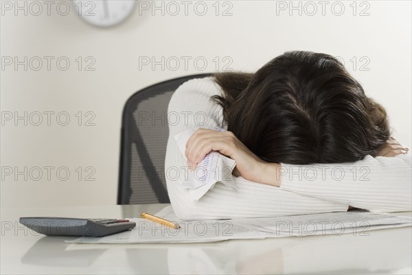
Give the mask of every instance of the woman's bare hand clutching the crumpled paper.
<path id="1" fill-rule="evenodd" d="M 244 146 L 231 131 L 219 132 L 211 129 L 197 129 L 187 140 L 185 151 L 187 164 L 194 170 L 210 151 L 219 151 L 219 153 L 236 161 L 233 175 L 260 184 L 279 186 L 276 181 L 275 168 L 280 164 L 264 162 L 247 146 Z"/>

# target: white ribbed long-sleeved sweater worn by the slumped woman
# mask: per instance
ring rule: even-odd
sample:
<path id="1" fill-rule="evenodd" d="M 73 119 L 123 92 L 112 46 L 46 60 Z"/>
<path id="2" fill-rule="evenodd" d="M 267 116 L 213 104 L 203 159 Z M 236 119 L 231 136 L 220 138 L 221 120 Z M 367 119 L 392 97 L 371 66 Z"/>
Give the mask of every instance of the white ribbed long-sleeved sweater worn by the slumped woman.
<path id="1" fill-rule="evenodd" d="M 216 94 L 222 95 L 222 89 L 212 78 L 196 78 L 183 83 L 169 103 L 165 177 L 170 202 L 179 218 L 271 217 L 346 211 L 348 206 L 373 212 L 412 210 L 410 155 L 367 155 L 345 164 L 281 163 L 280 187 L 233 177 L 236 190 L 218 182 L 201 199 L 193 201 L 188 190 L 180 186 L 187 163 L 174 135 L 198 126 L 221 126 L 222 107 L 211 100 Z"/>

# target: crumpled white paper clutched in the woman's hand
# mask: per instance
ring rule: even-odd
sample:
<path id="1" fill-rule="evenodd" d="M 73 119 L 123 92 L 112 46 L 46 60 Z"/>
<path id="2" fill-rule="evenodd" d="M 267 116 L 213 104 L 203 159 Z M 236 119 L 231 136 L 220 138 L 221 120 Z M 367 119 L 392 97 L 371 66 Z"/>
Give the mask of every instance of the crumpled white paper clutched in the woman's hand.
<path id="1" fill-rule="evenodd" d="M 179 147 L 179 151 L 181 151 L 186 161 L 187 158 L 185 157 L 185 150 L 187 140 L 189 140 L 190 136 L 198 128 L 199 127 L 188 129 L 187 131 L 174 136 L 176 144 Z M 220 127 L 209 129 L 226 131 Z M 229 188 L 236 189 L 233 176 L 231 175 L 235 166 L 236 162 L 230 157 L 226 157 L 218 151 L 211 151 L 200 163 L 198 163 L 195 170 L 189 170 L 187 179 L 183 181 L 181 188 L 189 189 L 190 197 L 196 201 L 205 195 L 208 190 L 214 188 L 214 185 L 217 182 L 221 182 Z"/>

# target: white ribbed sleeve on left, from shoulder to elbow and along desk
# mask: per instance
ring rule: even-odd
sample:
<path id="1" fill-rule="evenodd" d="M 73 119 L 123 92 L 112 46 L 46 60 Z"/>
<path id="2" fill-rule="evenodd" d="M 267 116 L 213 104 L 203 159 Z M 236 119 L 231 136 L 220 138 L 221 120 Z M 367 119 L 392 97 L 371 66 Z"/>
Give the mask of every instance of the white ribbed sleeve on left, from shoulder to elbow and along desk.
<path id="1" fill-rule="evenodd" d="M 174 92 L 168 106 L 169 139 L 165 155 L 165 179 L 176 215 L 181 219 L 234 219 L 272 217 L 346 211 L 347 203 L 338 203 L 299 195 L 275 186 L 233 177 L 236 190 L 218 182 L 201 199 L 194 201 L 181 183 L 187 163 L 174 135 L 196 126 L 222 125 L 222 107 L 211 96 L 222 95 L 213 78 L 197 78 L 183 83 Z"/>

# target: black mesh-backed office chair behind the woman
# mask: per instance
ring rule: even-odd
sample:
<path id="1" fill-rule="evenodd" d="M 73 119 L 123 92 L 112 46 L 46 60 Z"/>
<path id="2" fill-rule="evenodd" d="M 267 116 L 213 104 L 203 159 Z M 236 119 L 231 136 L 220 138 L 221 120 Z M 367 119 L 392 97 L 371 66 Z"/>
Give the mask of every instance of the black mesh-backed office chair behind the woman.
<path id="1" fill-rule="evenodd" d="M 168 144 L 168 104 L 187 80 L 211 74 L 183 76 L 137 91 L 122 115 L 117 204 L 170 203 L 164 164 Z"/>

